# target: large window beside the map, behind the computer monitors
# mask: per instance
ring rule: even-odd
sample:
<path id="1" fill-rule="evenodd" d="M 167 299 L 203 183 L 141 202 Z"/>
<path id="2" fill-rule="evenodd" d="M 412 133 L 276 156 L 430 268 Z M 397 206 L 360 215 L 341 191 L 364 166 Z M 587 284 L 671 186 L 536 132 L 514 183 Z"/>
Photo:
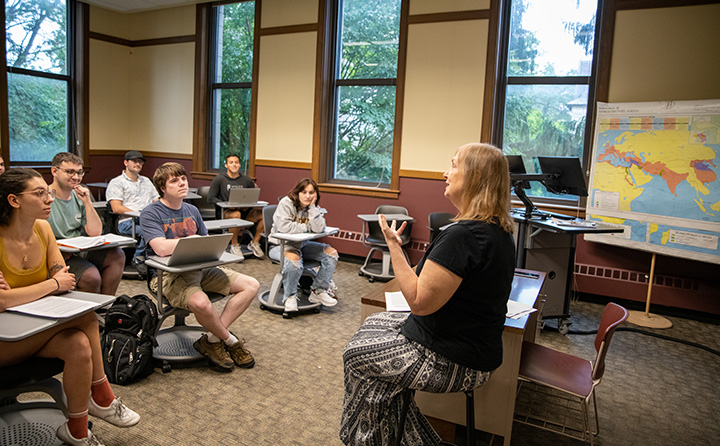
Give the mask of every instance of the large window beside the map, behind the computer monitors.
<path id="1" fill-rule="evenodd" d="M 504 113 L 494 142 L 506 154 L 522 155 L 528 172 L 539 171 L 538 156 L 582 160 L 590 150 L 598 0 L 509 3 L 504 94 L 498 96 Z M 553 196 L 540 183 L 531 185 L 528 195 Z"/>

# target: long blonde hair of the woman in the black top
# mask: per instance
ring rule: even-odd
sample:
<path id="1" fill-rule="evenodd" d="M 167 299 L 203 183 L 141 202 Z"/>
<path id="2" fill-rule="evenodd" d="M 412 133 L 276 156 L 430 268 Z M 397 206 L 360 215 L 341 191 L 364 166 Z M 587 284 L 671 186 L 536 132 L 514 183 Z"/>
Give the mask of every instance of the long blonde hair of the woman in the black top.
<path id="1" fill-rule="evenodd" d="M 497 223 L 512 234 L 510 170 L 502 150 L 491 144 L 465 144 L 457 158 L 463 190 L 456 219 Z"/>

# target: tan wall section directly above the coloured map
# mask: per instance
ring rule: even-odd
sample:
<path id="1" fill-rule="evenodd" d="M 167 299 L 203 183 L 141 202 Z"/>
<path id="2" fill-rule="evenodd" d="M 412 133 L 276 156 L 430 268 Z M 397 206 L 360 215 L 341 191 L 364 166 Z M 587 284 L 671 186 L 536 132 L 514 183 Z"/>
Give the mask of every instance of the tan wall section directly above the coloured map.
<path id="1" fill-rule="evenodd" d="M 720 98 L 720 4 L 619 11 L 609 102 Z"/>

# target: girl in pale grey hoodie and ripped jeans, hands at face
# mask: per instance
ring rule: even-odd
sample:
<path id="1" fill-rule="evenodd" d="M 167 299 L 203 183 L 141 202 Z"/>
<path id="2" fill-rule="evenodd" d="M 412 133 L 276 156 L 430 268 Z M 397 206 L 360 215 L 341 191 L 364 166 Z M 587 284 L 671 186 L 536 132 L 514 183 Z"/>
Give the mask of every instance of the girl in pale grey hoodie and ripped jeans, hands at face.
<path id="1" fill-rule="evenodd" d="M 325 231 L 325 217 L 318 207 L 320 192 L 317 184 L 310 178 L 300 180 L 286 197 L 278 203 L 273 215 L 273 226 L 270 241 L 279 244 L 272 237 L 276 233 L 302 233 Z M 320 269 L 313 279 L 312 292 L 308 300 L 321 303 L 326 307 L 337 304 L 328 294 L 330 281 L 338 261 L 337 251 L 326 243 L 315 241 L 285 242 L 283 259 L 283 301 L 285 311 L 298 311 L 297 287 L 303 272 L 303 259 L 320 262 Z"/>

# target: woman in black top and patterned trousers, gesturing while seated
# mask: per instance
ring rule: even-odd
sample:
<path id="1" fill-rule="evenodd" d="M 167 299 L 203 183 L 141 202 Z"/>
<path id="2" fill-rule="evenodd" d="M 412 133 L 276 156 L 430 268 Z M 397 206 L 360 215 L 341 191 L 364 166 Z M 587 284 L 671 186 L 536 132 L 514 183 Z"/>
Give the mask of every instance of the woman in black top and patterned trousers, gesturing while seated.
<path id="1" fill-rule="evenodd" d="M 396 228 L 379 218 L 411 313 L 371 315 L 345 347 L 340 439 L 347 445 L 393 444 L 406 389 L 471 390 L 502 362 L 515 268 L 508 164 L 494 146 L 467 144 L 444 177 L 455 223 L 435 238 L 415 271 L 400 245 L 405 223 Z M 414 401 L 402 435 L 405 445 L 440 442 Z"/>

